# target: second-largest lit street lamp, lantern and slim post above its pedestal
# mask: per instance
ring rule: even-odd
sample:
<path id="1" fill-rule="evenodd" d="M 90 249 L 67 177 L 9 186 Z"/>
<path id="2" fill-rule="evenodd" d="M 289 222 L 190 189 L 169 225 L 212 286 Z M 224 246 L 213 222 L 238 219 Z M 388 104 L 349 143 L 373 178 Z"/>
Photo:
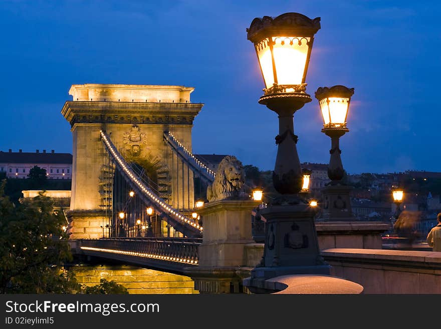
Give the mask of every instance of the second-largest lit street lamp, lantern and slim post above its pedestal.
<path id="1" fill-rule="evenodd" d="M 354 88 L 334 86 L 320 87 L 315 92 L 323 117 L 322 132 L 331 137 L 331 159 L 329 160 L 328 177 L 333 183 L 338 183 L 344 175 L 340 158 L 340 137 L 349 131 L 346 127 L 349 103 L 354 94 Z"/>

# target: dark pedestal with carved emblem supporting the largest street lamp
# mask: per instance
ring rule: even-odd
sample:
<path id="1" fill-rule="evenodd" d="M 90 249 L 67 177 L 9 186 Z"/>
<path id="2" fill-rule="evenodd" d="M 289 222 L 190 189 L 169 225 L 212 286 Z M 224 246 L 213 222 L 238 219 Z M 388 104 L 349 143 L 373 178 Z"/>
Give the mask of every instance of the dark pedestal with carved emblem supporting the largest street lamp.
<path id="1" fill-rule="evenodd" d="M 264 256 L 244 279 L 251 292 L 269 292 L 265 281 L 276 276 L 329 274 L 329 265 L 320 256 L 314 208 L 305 203 L 273 205 L 261 213 L 267 219 Z"/>

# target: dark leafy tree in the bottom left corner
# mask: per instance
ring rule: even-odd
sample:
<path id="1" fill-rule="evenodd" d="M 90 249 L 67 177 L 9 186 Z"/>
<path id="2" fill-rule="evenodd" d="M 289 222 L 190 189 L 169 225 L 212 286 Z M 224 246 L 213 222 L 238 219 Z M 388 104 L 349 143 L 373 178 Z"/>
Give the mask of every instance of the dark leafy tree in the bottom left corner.
<path id="1" fill-rule="evenodd" d="M 43 195 L 14 205 L 0 185 L 0 290 L 3 293 L 68 293 L 78 288 L 60 271 L 72 259 L 64 217 Z"/>

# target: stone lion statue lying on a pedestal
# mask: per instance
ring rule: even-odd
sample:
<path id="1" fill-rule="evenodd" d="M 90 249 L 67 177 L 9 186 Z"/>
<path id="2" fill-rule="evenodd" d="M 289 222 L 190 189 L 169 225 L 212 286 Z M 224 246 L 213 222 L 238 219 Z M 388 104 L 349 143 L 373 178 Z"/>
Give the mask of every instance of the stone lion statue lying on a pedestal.
<path id="1" fill-rule="evenodd" d="M 223 199 L 241 199 L 245 197 L 242 187 L 245 184 L 245 172 L 242 162 L 235 156 L 227 155 L 220 161 L 214 182 L 208 185 L 208 201 Z"/>

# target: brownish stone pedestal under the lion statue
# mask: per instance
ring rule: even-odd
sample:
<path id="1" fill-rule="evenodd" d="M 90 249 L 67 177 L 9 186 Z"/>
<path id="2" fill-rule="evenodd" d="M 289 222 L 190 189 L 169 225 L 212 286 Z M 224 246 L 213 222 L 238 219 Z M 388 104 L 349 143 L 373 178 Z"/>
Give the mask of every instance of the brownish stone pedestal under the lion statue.
<path id="1" fill-rule="evenodd" d="M 199 208 L 203 218 L 199 266 L 185 271 L 199 292 L 243 292 L 244 271 L 241 267 L 250 266 L 247 247 L 254 242 L 251 211 L 259 203 L 254 200 L 219 200 Z"/>

